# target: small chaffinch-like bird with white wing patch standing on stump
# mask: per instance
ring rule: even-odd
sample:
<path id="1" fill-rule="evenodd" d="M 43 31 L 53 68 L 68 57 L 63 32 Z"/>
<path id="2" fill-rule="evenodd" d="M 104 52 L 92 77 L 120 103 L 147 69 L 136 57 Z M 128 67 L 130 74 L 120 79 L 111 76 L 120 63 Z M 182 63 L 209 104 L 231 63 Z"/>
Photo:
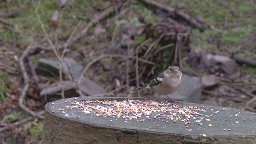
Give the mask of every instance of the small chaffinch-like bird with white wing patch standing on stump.
<path id="1" fill-rule="evenodd" d="M 145 84 L 145 86 L 135 88 L 134 90 L 131 90 L 131 92 L 151 90 L 156 92 L 159 98 L 160 95 L 165 95 L 170 99 L 168 102 L 178 103 L 177 101 L 170 98 L 167 94 L 172 94 L 178 90 L 181 84 L 181 76 L 182 72 L 180 72 L 178 66 L 169 66 L 167 70 L 159 74 L 150 83 Z M 161 98 L 160 101 L 163 102 Z"/>

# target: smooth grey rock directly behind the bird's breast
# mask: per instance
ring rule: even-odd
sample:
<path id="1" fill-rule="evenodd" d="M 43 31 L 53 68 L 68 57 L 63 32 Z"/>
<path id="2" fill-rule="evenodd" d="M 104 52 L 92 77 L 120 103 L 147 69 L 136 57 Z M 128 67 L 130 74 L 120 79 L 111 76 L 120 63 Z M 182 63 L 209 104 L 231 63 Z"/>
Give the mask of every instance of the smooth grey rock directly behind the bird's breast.
<path id="1" fill-rule="evenodd" d="M 202 84 L 199 78 L 182 74 L 180 88 L 172 94 L 168 94 L 174 100 L 200 103 L 202 97 Z M 160 96 L 162 100 L 169 100 L 166 96 Z M 157 97 L 158 98 L 158 97 Z"/>

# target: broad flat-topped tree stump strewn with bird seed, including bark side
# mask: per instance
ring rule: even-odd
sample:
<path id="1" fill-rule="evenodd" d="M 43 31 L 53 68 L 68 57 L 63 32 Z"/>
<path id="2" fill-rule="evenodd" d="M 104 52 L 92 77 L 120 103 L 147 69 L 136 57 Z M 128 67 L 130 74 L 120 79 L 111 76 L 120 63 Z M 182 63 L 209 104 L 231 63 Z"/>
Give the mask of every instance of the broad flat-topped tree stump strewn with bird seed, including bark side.
<path id="1" fill-rule="evenodd" d="M 45 106 L 42 144 L 256 143 L 256 114 L 190 102 L 77 97 Z"/>

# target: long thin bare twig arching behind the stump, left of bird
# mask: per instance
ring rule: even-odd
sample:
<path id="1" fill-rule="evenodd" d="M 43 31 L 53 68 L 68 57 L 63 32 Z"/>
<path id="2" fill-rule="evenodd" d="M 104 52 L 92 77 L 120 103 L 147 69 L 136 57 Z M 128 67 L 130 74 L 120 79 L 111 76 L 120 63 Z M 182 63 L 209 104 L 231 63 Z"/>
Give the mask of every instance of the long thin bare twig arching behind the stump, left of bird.
<path id="1" fill-rule="evenodd" d="M 104 54 L 104 55 L 101 55 L 101 56 L 99 56 L 99 57 L 93 59 L 89 64 L 86 65 L 86 67 L 84 68 L 84 70 L 83 70 L 83 72 L 82 72 L 82 74 L 81 74 L 81 76 L 80 76 L 80 78 L 79 78 L 79 80 L 78 80 L 78 84 L 80 84 L 80 82 L 81 82 L 81 80 L 82 80 L 82 78 L 83 78 L 83 76 L 84 76 L 86 70 L 87 70 L 92 64 L 94 64 L 94 62 L 97 62 L 98 60 L 100 60 L 100 59 L 102 59 L 102 58 L 105 58 L 105 57 L 134 58 L 134 59 L 136 58 L 135 56 L 124 56 L 124 55 L 118 55 L 118 54 Z M 150 61 L 148 61 L 148 60 L 143 60 L 143 59 L 141 59 L 141 58 L 138 58 L 138 60 L 141 61 L 141 62 L 145 62 L 145 63 L 148 63 L 148 64 L 152 64 L 152 65 L 155 64 L 154 62 L 150 62 Z"/>

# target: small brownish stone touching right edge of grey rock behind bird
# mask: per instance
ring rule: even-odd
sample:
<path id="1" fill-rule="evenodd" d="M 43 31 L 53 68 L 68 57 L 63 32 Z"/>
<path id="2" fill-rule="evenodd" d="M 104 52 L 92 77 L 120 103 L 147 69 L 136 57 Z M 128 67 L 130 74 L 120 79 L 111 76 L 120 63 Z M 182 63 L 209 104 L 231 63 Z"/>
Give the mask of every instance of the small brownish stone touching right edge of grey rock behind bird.
<path id="1" fill-rule="evenodd" d="M 203 76 L 201 78 L 202 88 L 211 89 L 220 83 L 220 77 L 210 74 L 209 76 Z"/>

